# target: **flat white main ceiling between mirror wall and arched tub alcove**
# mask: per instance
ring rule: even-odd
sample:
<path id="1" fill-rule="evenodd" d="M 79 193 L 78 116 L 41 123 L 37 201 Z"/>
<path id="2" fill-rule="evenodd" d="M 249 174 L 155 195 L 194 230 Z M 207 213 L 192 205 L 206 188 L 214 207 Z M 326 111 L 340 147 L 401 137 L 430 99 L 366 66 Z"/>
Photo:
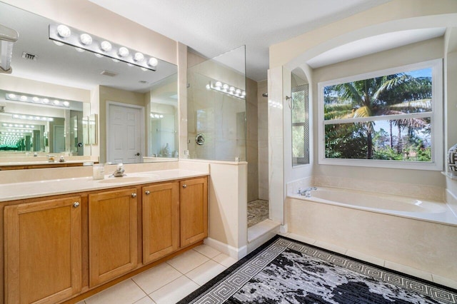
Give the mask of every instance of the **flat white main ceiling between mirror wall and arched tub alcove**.
<path id="1" fill-rule="evenodd" d="M 89 0 L 208 58 L 246 45 L 246 74 L 266 79 L 268 47 L 390 0 Z"/>

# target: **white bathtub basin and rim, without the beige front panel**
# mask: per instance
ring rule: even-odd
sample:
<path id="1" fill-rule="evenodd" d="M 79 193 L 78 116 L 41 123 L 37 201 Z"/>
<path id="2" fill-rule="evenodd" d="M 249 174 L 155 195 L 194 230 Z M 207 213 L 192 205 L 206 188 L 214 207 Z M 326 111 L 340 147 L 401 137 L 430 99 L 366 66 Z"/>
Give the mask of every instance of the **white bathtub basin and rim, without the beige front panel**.
<path id="1" fill-rule="evenodd" d="M 289 194 L 289 197 L 457 226 L 457 216 L 451 208 L 438 201 L 329 187 L 317 187 L 311 191 L 311 197 L 298 193 Z"/>

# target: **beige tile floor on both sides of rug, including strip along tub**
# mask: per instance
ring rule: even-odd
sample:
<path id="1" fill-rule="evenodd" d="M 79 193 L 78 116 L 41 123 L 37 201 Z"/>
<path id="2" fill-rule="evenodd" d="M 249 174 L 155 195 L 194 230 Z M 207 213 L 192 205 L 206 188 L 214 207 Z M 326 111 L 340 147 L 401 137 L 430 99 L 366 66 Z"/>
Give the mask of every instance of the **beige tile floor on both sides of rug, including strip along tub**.
<path id="1" fill-rule="evenodd" d="M 293 233 L 282 234 L 288 238 L 301 240 L 311 245 L 343 253 L 353 258 L 360 258 L 376 265 L 401 271 L 435 283 L 457 288 L 457 281 L 449 280 L 404 265 L 394 265 L 388 260 L 381 260 L 370 255 L 357 253 L 346 248 L 322 241 L 306 238 Z M 236 260 L 220 253 L 208 245 L 200 245 L 175 258 L 161 263 L 139 275 L 124 280 L 77 304 L 172 304 L 189 295 L 204 283 L 214 278 L 221 271 L 229 268 Z"/>

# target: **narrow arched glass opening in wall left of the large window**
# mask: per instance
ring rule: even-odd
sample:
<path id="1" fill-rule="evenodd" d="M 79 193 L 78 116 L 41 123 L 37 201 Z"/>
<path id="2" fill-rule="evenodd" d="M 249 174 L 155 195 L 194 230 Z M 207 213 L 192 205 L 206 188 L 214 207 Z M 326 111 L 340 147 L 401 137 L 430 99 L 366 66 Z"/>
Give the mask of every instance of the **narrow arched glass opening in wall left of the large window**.
<path id="1" fill-rule="evenodd" d="M 306 75 L 292 71 L 292 166 L 309 163 L 309 93 Z"/>

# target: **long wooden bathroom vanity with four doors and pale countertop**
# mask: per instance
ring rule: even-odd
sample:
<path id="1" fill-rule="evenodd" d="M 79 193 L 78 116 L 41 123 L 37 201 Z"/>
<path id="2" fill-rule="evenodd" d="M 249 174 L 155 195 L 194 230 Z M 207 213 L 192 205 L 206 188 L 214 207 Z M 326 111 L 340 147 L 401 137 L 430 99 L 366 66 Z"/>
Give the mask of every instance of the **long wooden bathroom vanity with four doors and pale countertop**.
<path id="1" fill-rule="evenodd" d="M 1 298 L 90 295 L 199 245 L 208 235 L 207 189 L 207 173 L 181 169 L 1 185 Z"/>

